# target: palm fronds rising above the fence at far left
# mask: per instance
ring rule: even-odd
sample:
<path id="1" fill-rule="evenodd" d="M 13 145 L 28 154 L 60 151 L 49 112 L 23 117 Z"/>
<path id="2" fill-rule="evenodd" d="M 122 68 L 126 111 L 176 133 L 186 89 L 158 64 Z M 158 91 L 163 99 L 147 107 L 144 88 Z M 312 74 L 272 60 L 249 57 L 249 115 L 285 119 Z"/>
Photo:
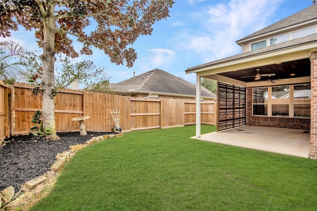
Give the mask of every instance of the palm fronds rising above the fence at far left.
<path id="1" fill-rule="evenodd" d="M 0 42 L 0 80 L 14 81 L 24 66 L 24 49 L 13 41 Z"/>

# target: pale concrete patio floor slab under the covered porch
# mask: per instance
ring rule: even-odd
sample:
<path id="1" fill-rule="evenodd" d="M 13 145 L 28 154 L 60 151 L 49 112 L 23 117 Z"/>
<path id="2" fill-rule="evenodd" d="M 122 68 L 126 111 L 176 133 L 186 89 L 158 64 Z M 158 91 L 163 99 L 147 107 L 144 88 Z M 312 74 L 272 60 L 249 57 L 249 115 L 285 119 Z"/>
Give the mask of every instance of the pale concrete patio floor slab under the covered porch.
<path id="1" fill-rule="evenodd" d="M 192 138 L 303 158 L 310 154 L 310 134 L 302 129 L 244 126 Z"/>

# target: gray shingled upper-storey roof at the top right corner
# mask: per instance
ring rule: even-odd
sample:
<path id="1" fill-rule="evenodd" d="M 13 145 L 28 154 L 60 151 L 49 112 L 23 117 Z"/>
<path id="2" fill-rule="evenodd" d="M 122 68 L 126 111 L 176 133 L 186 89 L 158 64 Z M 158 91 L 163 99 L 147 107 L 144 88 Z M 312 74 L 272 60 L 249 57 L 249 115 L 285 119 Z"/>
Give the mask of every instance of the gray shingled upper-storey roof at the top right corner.
<path id="1" fill-rule="evenodd" d="M 304 23 L 304 22 L 307 22 L 307 21 L 310 21 L 310 20 L 313 20 L 313 19 L 317 19 L 317 4 L 313 4 L 312 6 L 310 7 L 307 7 L 306 9 L 303 9 L 302 11 L 299 11 L 281 21 L 278 21 L 260 31 L 257 31 L 245 38 L 242 38 L 240 40 L 238 40 L 237 42 L 240 42 L 240 41 L 243 41 L 245 39 L 249 39 L 249 38 L 252 38 L 252 37 L 256 37 L 258 35 L 262 35 L 262 34 L 265 34 L 265 33 L 269 33 L 269 32 L 272 32 L 272 31 L 275 31 L 275 30 L 280 30 L 280 29 L 283 29 L 283 28 L 287 28 L 287 27 L 290 27 L 290 26 L 294 26 L 296 24 L 301 24 L 301 23 Z"/>

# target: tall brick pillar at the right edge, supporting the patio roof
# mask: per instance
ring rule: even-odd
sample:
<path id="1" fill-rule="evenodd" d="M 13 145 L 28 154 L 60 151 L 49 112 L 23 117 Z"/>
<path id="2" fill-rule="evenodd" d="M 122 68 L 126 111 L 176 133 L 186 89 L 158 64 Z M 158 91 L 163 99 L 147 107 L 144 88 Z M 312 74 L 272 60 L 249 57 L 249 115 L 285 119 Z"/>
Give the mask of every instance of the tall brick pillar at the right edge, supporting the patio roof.
<path id="1" fill-rule="evenodd" d="M 317 51 L 311 53 L 311 152 L 309 157 L 317 159 Z"/>

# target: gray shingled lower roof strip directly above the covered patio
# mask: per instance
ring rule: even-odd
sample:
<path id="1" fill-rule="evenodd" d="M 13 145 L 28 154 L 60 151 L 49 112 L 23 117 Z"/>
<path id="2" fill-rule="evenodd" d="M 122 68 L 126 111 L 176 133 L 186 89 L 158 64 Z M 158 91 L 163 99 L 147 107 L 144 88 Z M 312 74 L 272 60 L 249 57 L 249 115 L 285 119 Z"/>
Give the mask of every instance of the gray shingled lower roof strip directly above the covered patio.
<path id="1" fill-rule="evenodd" d="M 255 55 L 262 55 L 262 54 L 266 54 L 266 53 L 270 53 L 270 52 L 274 52 L 274 51 L 278 51 L 278 50 L 282 50 L 282 49 L 286 49 L 286 48 L 290 48 L 290 47 L 296 47 L 296 46 L 300 46 L 300 45 L 307 44 L 307 43 L 310 43 L 310 42 L 317 42 L 317 33 L 315 33 L 313 35 L 306 36 L 306 37 L 290 40 L 290 41 L 287 41 L 287 42 L 281 42 L 281 43 L 278 43 L 278 44 L 270 45 L 270 46 L 263 47 L 263 48 L 260 48 L 260 49 L 257 49 L 257 50 L 248 51 L 248 52 L 245 52 L 245 53 L 240 53 L 240 54 L 237 54 L 237 55 L 234 55 L 234 56 L 230 56 L 230 57 L 227 57 L 227 58 L 219 59 L 219 60 L 216 60 L 216 61 L 212 61 L 212 62 L 209 62 L 209 63 L 198 65 L 198 66 L 195 66 L 195 67 L 190 67 L 190 68 L 187 68 L 185 70 L 185 72 L 192 71 L 192 70 L 199 69 L 199 68 L 203 68 L 203 67 L 212 66 L 212 65 L 215 65 L 215 64 L 225 63 L 225 62 L 228 62 L 228 61 L 234 61 L 234 60 L 239 60 L 239 59 L 242 59 L 242 58 L 248 58 L 248 57 L 252 57 L 252 56 L 255 56 Z"/>

